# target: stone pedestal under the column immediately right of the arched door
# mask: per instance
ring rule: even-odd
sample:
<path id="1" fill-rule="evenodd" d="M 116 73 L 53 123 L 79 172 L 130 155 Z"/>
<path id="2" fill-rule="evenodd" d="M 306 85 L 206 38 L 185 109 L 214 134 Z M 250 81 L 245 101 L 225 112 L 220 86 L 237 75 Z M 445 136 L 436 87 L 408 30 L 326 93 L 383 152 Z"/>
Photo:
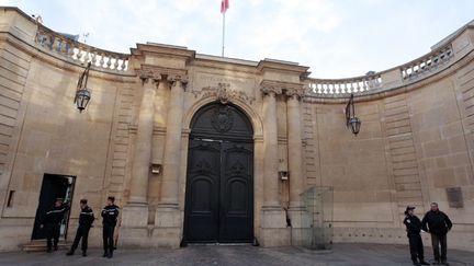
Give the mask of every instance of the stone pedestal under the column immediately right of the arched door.
<path id="1" fill-rule="evenodd" d="M 262 207 L 260 224 L 259 242 L 262 246 L 290 245 L 291 228 L 286 227 L 286 213 L 281 207 Z"/>

